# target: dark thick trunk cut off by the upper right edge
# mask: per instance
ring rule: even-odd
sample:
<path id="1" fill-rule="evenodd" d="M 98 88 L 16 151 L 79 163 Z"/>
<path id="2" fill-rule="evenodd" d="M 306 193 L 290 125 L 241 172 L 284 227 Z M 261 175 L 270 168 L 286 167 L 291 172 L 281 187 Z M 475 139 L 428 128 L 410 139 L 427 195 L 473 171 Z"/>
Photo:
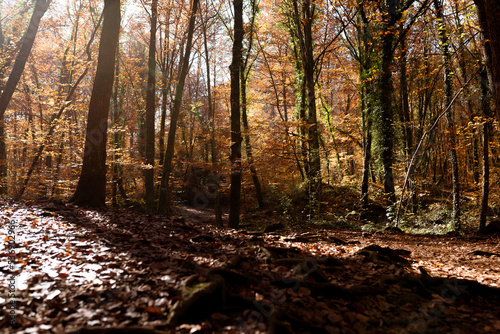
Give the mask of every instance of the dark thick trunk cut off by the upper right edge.
<path id="1" fill-rule="evenodd" d="M 500 120 L 500 1 L 474 0 L 479 16 L 479 24 L 484 37 L 484 55 L 490 82 L 490 90 L 495 104 L 496 116 Z"/>

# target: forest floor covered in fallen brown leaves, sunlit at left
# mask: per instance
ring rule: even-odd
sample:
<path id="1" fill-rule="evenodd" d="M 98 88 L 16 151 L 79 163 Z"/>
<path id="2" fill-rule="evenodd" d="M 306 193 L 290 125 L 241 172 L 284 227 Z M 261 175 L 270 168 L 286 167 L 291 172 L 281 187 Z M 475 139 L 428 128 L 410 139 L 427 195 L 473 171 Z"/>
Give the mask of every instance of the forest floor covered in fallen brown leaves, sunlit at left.
<path id="1" fill-rule="evenodd" d="M 0 333 L 500 333 L 499 236 L 211 215 L 0 201 Z"/>

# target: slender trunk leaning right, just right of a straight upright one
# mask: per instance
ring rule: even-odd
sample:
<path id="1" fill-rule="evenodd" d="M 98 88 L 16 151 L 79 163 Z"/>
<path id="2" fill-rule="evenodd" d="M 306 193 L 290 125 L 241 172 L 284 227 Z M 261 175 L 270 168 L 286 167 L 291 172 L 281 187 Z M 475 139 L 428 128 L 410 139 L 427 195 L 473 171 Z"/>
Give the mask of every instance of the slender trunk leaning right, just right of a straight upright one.
<path id="1" fill-rule="evenodd" d="M 196 11 L 198 9 L 199 0 L 193 0 L 191 8 L 191 17 L 189 19 L 188 37 L 186 49 L 182 59 L 182 67 L 179 73 L 177 87 L 175 89 L 174 107 L 170 115 L 170 130 L 168 132 L 167 149 L 163 161 L 163 173 L 160 185 L 160 197 L 158 200 L 158 212 L 162 214 L 171 213 L 171 189 L 170 189 L 170 174 L 172 173 L 172 160 L 174 158 L 175 148 L 175 133 L 177 131 L 177 121 L 182 107 L 182 96 L 184 93 L 184 84 L 189 71 L 189 59 L 191 48 L 193 45 L 194 24 L 196 21 Z"/>

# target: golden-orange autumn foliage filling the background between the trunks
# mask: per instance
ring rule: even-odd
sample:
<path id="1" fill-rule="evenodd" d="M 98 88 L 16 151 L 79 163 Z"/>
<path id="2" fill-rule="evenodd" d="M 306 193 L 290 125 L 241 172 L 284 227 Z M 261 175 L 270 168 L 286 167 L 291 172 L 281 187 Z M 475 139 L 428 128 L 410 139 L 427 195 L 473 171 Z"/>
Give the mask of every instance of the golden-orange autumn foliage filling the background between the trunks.
<path id="1" fill-rule="evenodd" d="M 405 2 L 410 4 L 411 2 Z M 469 82 L 454 103 L 455 146 L 460 166 L 460 183 L 463 191 L 479 196 L 480 169 L 482 166 L 480 141 L 482 125 L 490 121 L 482 115 L 480 78 L 477 70 L 481 62 L 481 41 L 476 34 L 477 17 L 471 1 L 450 0 L 443 2 L 445 22 L 438 24 L 431 7 L 414 4 L 401 13 L 401 31 L 395 33 L 393 45 L 392 102 L 394 117 L 389 120 L 394 136 L 393 173 L 396 195 L 400 195 L 408 167 L 409 153 L 434 123 L 445 107 L 445 81 L 440 54 L 440 27 L 447 27 L 454 91 Z M 273 1 L 256 2 L 255 22 L 250 25 L 252 4 L 244 3 L 244 49 L 253 32 L 253 48 L 249 54 L 251 71 L 246 79 L 248 135 L 252 143 L 252 162 L 245 152 L 241 160 L 242 207 L 255 207 L 255 190 L 251 182 L 251 167 L 258 173 L 265 194 L 265 202 L 276 205 L 287 220 L 302 224 L 304 217 L 304 187 L 310 166 L 310 139 L 305 117 L 307 111 L 305 82 L 300 57 L 300 45 L 291 28 L 297 25 L 291 19 L 293 1 L 279 4 Z M 298 1 L 298 5 L 302 2 Z M 189 20 L 187 1 L 158 2 L 158 29 L 156 36 L 156 145 L 155 189 L 165 150 L 164 138 L 170 122 L 181 55 L 186 42 Z M 314 90 L 317 106 L 319 154 L 322 184 L 353 187 L 359 192 L 362 180 L 368 134 L 373 139 L 370 148 L 373 158 L 368 161 L 369 203 L 384 206 L 380 189 L 384 178 L 383 153 L 386 147 L 383 136 L 388 128 L 378 120 L 383 112 L 383 92 L 379 80 L 383 72 L 383 52 L 386 17 L 384 8 L 369 1 L 333 2 L 316 1 L 312 24 L 312 47 L 315 61 Z M 213 173 L 220 180 L 221 199 L 227 202 L 230 162 L 229 60 L 232 46 L 231 3 L 200 4 L 194 32 L 191 70 L 186 78 L 186 89 L 179 115 L 179 131 L 173 158 L 172 191 L 192 197 L 188 188 L 202 186 L 194 169 Z M 15 196 L 36 156 L 44 144 L 42 159 L 36 164 L 26 199 L 68 199 L 77 183 L 81 168 L 84 129 L 92 78 L 95 74 L 99 24 L 102 2 L 72 0 L 56 1 L 41 22 L 32 54 L 28 60 L 19 89 L 9 105 L 5 117 L 7 127 L 7 167 L 9 196 Z M 116 82 L 112 97 L 108 139 L 108 201 L 129 205 L 130 201 L 144 204 L 145 183 L 143 172 L 149 164 L 145 161 L 145 97 L 147 79 L 147 50 L 149 44 L 150 2 L 127 2 L 122 6 L 124 20 L 118 52 Z M 2 3 L 2 45 L 0 75 L 4 82 L 12 68 L 12 57 L 29 17 L 29 5 L 16 2 Z M 201 29 L 201 23 L 204 29 Z M 92 36 L 96 35 L 93 40 Z M 204 38 L 206 34 L 206 38 Z M 404 42 L 398 39 L 404 34 Z M 204 45 L 206 40 L 206 49 Z M 399 44 L 398 44 L 399 43 Z M 205 61 L 207 60 L 207 61 Z M 207 66 L 210 79 L 207 76 Z M 401 93 L 405 84 L 400 76 L 403 66 L 407 69 L 408 96 Z M 85 72 L 87 71 L 87 72 Z M 84 78 L 75 88 L 74 97 L 64 102 L 68 89 L 75 85 L 80 75 Z M 207 87 L 210 86 L 209 97 Z M 405 100 L 406 99 L 406 100 Z M 65 111 L 54 119 L 66 103 Z M 402 114 L 405 103 L 409 106 L 409 119 Z M 160 121 L 163 119 L 163 121 Z M 163 125 L 161 125 L 163 124 Z M 370 125 L 372 124 L 372 125 Z M 54 136 L 48 136 L 51 126 Z M 494 129 L 496 129 L 494 124 Z M 405 147 L 406 128 L 413 138 L 409 150 Z M 499 187 L 499 170 L 495 152 L 498 151 L 497 132 L 493 131 L 489 145 L 492 154 L 491 193 Z M 442 190 L 451 189 L 448 153 L 449 129 L 439 123 L 429 133 L 416 156 L 412 180 L 415 198 L 425 194 L 426 187 L 434 184 Z M 371 139 L 370 139 L 371 140 Z M 162 146 L 163 145 L 163 146 Z M 385 146 L 384 146 L 385 145 Z M 406 196 L 413 196 L 407 194 Z M 330 194 L 321 199 L 319 221 L 342 221 L 346 212 L 332 214 L 337 207 Z M 356 198 L 358 197 L 358 198 Z M 351 198 L 351 197 L 350 197 Z M 179 198 L 180 199 L 180 198 Z M 186 199 L 186 198 L 184 198 Z M 192 202 L 189 198 L 188 202 Z M 399 200 L 399 198 L 398 198 Z M 403 199 L 406 203 L 407 199 Z M 493 197 L 490 206 L 498 206 Z M 359 209 L 359 194 L 346 205 L 347 212 L 364 213 Z M 449 204 L 442 199 L 443 210 Z M 174 201 L 174 203 L 176 203 Z M 214 205 L 214 201 L 210 205 Z M 406 205 L 406 204 L 405 204 Z M 432 221 L 424 206 L 416 205 L 412 216 L 403 217 L 405 224 Z M 473 208 L 466 208 L 471 211 Z M 391 209 L 392 210 L 392 209 Z M 393 219 L 394 210 L 391 212 Z M 306 210 L 307 211 L 307 210 Z M 333 210 L 335 211 L 335 210 Z M 407 210 L 408 211 L 408 210 Z M 411 211 L 411 210 L 410 210 Z M 490 212 L 490 215 L 494 211 Z M 330 215 L 330 218 L 328 218 Z M 334 217 L 334 218 L 332 218 Z M 348 220 L 351 218 L 349 217 Z M 384 218 L 385 219 L 385 218 Z M 373 219 L 372 219 L 373 220 Z M 412 223 L 411 223 L 412 222 Z M 422 225 L 423 226 L 423 225 Z"/>

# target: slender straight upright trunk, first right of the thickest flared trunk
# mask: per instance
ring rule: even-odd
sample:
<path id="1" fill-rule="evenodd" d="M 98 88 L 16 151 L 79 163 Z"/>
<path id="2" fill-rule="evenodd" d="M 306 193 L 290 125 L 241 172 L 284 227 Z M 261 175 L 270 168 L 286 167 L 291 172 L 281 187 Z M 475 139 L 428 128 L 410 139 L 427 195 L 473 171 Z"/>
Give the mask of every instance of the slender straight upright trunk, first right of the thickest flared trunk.
<path id="1" fill-rule="evenodd" d="M 156 22 L 158 0 L 151 2 L 151 29 L 149 35 L 148 86 L 146 90 L 146 212 L 152 214 L 155 205 L 155 116 L 156 116 Z"/>

